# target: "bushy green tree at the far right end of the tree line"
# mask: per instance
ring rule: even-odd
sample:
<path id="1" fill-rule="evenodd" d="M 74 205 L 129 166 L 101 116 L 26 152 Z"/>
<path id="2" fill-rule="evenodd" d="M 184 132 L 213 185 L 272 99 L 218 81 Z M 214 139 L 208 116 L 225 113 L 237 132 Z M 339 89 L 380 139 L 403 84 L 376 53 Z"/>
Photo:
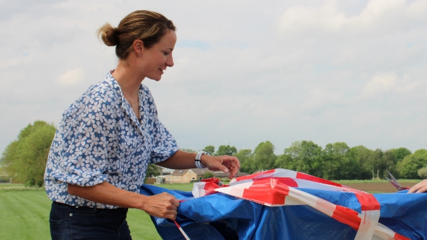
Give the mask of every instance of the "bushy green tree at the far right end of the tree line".
<path id="1" fill-rule="evenodd" d="M 427 166 L 427 150 L 419 149 L 413 154 L 407 155 L 400 165 L 400 177 L 419 179 L 418 170 Z"/>

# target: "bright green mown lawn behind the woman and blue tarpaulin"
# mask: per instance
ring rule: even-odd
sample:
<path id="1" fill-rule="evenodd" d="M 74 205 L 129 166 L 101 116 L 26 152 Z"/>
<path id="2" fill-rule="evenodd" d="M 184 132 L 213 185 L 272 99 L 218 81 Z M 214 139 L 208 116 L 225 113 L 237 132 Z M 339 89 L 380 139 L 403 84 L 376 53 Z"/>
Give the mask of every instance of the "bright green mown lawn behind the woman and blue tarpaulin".
<path id="1" fill-rule="evenodd" d="M 156 186 L 187 191 L 193 188 L 193 184 Z M 44 188 L 25 188 L 23 184 L 0 184 L 0 239 L 50 239 L 51 203 Z M 147 213 L 129 209 L 127 222 L 133 239 L 161 239 Z"/>

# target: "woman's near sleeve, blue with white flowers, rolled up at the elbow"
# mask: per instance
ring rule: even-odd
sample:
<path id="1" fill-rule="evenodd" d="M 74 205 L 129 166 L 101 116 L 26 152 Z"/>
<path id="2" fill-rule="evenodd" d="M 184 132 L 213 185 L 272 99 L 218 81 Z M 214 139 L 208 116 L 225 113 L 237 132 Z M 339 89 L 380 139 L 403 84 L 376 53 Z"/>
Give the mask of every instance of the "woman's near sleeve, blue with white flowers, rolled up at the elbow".
<path id="1" fill-rule="evenodd" d="M 54 182 L 66 182 L 78 186 L 94 186 L 105 182 L 108 134 L 105 116 L 100 113 L 101 103 L 87 100 L 67 114 L 56 132 L 52 146 L 56 146 Z"/>

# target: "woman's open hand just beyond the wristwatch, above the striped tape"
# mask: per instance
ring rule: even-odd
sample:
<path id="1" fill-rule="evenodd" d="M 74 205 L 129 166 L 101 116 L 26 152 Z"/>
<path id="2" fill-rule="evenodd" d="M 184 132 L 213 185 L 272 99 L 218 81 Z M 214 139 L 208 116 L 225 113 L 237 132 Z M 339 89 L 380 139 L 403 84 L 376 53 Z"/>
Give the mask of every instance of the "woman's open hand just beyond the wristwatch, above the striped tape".
<path id="1" fill-rule="evenodd" d="M 200 162 L 211 171 L 219 170 L 224 173 L 230 173 L 229 179 L 236 177 L 240 169 L 238 158 L 229 155 L 209 156 L 204 154 L 200 157 Z"/>

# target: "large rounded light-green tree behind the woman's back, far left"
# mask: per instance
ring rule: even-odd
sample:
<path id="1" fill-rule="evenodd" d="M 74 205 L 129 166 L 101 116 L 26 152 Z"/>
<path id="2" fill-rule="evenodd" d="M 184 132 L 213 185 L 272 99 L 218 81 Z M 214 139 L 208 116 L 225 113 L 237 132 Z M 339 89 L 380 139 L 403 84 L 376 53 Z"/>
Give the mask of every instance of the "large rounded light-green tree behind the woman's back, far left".
<path id="1" fill-rule="evenodd" d="M 53 124 L 35 121 L 21 130 L 2 154 L 3 168 L 10 177 L 26 186 L 42 186 L 46 161 L 56 128 Z"/>

